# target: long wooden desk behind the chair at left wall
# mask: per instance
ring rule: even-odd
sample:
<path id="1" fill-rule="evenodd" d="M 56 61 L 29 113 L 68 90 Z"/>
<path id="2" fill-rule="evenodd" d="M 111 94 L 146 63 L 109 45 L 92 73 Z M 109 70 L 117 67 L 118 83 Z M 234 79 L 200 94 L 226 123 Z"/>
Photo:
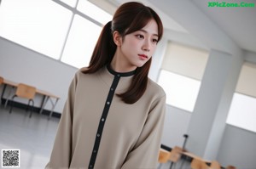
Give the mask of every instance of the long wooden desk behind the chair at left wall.
<path id="1" fill-rule="evenodd" d="M 12 82 L 12 81 L 9 81 L 7 79 L 3 79 L 3 92 L 2 92 L 2 95 L 1 95 L 1 100 L 3 99 L 3 94 L 5 92 L 6 87 L 7 86 L 12 87 L 12 90 L 9 91 L 9 94 L 8 94 L 8 97 L 5 101 L 4 107 L 6 107 L 6 105 L 8 103 L 8 100 L 10 99 L 11 92 L 13 91 L 13 89 L 15 87 L 18 87 L 18 84 L 19 84 L 18 82 Z M 52 108 L 50 110 L 49 117 L 48 117 L 48 119 L 49 119 L 51 117 L 53 111 L 55 110 L 55 105 L 57 104 L 60 97 L 55 96 L 54 94 L 46 92 L 44 90 L 40 90 L 38 88 L 36 89 L 36 93 L 41 94 L 44 97 L 43 101 L 42 101 L 42 104 L 40 106 L 40 114 L 42 114 L 42 112 L 44 110 L 44 107 L 45 107 L 45 105 L 47 104 L 48 101 L 50 101 L 50 103 L 52 104 Z"/>

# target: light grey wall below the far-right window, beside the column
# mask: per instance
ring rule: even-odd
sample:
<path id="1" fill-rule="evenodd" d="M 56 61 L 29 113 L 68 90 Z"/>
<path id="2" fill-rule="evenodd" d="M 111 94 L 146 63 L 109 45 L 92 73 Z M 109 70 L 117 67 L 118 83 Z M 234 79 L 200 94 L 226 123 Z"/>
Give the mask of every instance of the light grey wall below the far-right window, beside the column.
<path id="1" fill-rule="evenodd" d="M 237 169 L 254 169 L 256 166 L 256 134 L 226 125 L 218 159 L 223 166 L 232 164 Z"/>

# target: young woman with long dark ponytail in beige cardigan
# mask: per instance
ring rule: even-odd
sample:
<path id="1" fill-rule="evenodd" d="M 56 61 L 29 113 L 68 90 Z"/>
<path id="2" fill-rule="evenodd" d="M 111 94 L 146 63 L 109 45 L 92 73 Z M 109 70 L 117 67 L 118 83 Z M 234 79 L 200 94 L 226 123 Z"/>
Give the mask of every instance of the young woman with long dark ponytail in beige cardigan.
<path id="1" fill-rule="evenodd" d="M 166 94 L 148 79 L 160 17 L 124 3 L 69 87 L 47 168 L 155 168 Z"/>

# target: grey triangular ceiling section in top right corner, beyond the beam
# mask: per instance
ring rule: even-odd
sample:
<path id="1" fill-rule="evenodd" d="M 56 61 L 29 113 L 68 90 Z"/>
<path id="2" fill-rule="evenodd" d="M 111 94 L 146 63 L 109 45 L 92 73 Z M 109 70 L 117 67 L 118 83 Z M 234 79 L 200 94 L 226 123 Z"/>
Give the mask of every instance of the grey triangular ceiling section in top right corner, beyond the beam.
<path id="1" fill-rule="evenodd" d="M 193 1 L 240 48 L 256 53 L 256 0 L 245 1 L 253 3 L 254 8 L 208 8 L 208 0 Z"/>

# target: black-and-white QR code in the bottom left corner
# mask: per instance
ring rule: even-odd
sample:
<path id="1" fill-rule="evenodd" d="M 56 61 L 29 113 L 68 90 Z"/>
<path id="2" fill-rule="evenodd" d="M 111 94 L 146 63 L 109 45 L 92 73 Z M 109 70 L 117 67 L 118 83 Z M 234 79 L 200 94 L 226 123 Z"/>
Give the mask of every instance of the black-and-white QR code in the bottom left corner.
<path id="1" fill-rule="evenodd" d="M 20 149 L 2 149 L 2 167 L 20 167 Z"/>

